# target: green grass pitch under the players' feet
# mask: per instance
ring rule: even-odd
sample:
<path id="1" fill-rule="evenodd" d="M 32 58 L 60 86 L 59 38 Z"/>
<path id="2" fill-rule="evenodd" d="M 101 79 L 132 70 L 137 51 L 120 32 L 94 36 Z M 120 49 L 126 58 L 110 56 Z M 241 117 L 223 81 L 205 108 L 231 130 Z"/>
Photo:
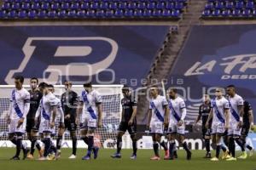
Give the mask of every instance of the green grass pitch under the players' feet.
<path id="1" fill-rule="evenodd" d="M 10 161 L 15 149 L 0 148 L 1 170 L 254 170 L 256 169 L 256 156 L 246 160 L 237 161 L 209 161 L 202 158 L 204 150 L 192 150 L 192 160 L 185 160 L 184 150 L 178 150 L 178 159 L 174 161 L 150 161 L 153 150 L 138 150 L 137 160 L 130 160 L 131 150 L 122 150 L 121 159 L 113 159 L 110 156 L 115 150 L 100 150 L 97 160 L 82 161 L 86 150 L 78 150 L 76 160 L 68 160 L 70 149 L 62 149 L 61 159 L 57 161 Z M 21 152 L 22 153 L 22 152 Z M 214 153 L 214 151 L 212 152 Z M 163 155 L 163 151 L 160 152 Z M 21 154 L 22 155 L 22 154 Z M 35 156 L 38 153 L 35 152 Z M 256 155 L 256 153 L 255 153 Z M 237 153 L 240 156 L 240 153 Z M 162 156 L 163 157 L 163 156 Z"/>

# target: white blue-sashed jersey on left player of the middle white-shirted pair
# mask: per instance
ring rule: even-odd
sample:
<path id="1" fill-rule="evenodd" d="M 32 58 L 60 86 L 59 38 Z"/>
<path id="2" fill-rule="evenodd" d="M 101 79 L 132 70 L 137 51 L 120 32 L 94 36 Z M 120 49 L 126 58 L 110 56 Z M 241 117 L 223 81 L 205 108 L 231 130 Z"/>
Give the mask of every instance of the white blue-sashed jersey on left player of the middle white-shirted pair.
<path id="1" fill-rule="evenodd" d="M 155 99 L 149 101 L 149 109 L 152 110 L 151 122 L 164 122 L 165 106 L 168 105 L 164 96 L 158 95 Z"/>

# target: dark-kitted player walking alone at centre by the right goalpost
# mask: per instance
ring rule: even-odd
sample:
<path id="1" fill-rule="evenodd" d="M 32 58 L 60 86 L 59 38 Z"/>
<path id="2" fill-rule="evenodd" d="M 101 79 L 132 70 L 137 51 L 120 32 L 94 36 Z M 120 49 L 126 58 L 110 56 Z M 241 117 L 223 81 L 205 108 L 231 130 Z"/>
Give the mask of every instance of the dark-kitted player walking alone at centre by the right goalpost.
<path id="1" fill-rule="evenodd" d="M 137 158 L 137 101 L 131 94 L 131 89 L 128 86 L 122 88 L 122 93 L 124 99 L 121 100 L 122 103 L 122 119 L 119 124 L 119 133 L 117 134 L 117 152 L 112 156 L 113 158 L 121 158 L 122 149 L 122 136 L 128 130 L 132 140 L 133 153 L 131 159 Z"/>

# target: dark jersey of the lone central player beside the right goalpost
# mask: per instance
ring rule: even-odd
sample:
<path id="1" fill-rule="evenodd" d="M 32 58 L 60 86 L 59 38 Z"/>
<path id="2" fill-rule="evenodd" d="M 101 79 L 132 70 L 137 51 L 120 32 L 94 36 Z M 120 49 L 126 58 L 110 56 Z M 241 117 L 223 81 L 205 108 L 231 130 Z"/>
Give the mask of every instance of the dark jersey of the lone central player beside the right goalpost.
<path id="1" fill-rule="evenodd" d="M 132 107 L 137 106 L 137 101 L 135 99 L 131 99 L 131 96 L 128 98 L 124 98 L 121 100 L 123 114 L 122 122 L 129 122 L 132 116 L 133 109 Z"/>

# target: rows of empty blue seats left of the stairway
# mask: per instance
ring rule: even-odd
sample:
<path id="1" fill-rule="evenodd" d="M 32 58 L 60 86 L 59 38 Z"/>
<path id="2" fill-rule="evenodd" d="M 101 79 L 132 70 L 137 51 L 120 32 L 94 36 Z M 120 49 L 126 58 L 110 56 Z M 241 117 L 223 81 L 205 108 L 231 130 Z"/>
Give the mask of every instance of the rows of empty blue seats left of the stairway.
<path id="1" fill-rule="evenodd" d="M 187 0 L 4 0 L 0 19 L 179 19 Z"/>

